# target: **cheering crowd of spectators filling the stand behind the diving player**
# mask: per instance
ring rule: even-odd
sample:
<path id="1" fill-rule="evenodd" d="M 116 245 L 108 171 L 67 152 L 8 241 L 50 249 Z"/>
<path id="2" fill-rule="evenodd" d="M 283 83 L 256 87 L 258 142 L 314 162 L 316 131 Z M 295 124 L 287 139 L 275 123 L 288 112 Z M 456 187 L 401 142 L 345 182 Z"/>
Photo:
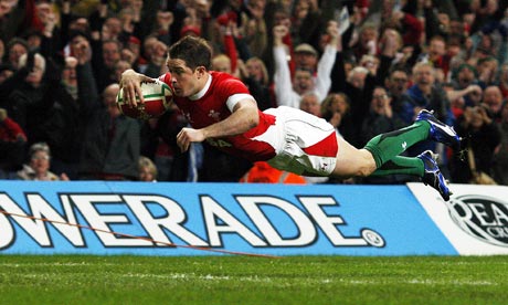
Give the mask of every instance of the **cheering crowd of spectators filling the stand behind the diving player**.
<path id="1" fill-rule="evenodd" d="M 183 35 L 208 39 L 213 70 L 241 78 L 262 111 L 298 107 L 358 148 L 432 109 L 463 149 L 427 141 L 408 156 L 438 152 L 452 182 L 508 185 L 508 1 L 497 0 L 0 0 L 0 179 L 286 182 L 207 144 L 180 152 L 177 108 L 148 120 L 118 111 L 121 73 L 161 75 Z"/>

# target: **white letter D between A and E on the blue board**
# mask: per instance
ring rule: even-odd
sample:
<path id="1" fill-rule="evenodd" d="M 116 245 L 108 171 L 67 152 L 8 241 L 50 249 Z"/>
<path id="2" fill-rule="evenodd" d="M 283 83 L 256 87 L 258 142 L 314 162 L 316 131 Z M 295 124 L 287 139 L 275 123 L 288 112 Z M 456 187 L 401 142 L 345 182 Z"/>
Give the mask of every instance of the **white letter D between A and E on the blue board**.
<path id="1" fill-rule="evenodd" d="M 293 245 L 301 246 L 314 242 L 317 238 L 316 228 L 308 217 L 301 212 L 294 204 L 278 198 L 260 196 L 260 197 L 237 197 L 236 200 L 242 204 L 252 221 L 256 224 L 257 229 L 267 239 L 268 244 L 273 246 Z M 283 239 L 281 234 L 272 225 L 273 222 L 268 221 L 265 214 L 261 211 L 260 206 L 273 206 L 283 210 L 297 227 L 298 234 L 294 239 Z M 287 227 L 287 223 L 284 223 Z"/>

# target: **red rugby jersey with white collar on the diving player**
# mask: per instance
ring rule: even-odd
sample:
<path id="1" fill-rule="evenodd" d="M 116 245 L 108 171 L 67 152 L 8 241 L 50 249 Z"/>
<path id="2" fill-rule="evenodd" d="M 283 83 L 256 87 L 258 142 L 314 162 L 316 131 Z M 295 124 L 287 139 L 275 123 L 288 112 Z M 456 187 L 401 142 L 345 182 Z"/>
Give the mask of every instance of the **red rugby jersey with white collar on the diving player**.
<path id="1" fill-rule="evenodd" d="M 231 115 L 226 101 L 235 94 L 250 94 L 248 88 L 237 78 L 230 74 L 211 71 L 212 83 L 208 92 L 199 99 L 192 101 L 188 97 L 174 96 L 174 103 L 187 117 L 192 128 L 203 128 L 227 118 Z M 172 87 L 171 74 L 168 72 L 159 77 L 162 82 Z M 275 125 L 275 116 L 265 114 L 257 109 L 260 124 L 244 134 L 207 139 L 216 148 L 246 158 L 250 161 L 264 161 L 275 157 L 272 145 L 254 140 L 252 138 L 262 135 L 271 125 Z"/>

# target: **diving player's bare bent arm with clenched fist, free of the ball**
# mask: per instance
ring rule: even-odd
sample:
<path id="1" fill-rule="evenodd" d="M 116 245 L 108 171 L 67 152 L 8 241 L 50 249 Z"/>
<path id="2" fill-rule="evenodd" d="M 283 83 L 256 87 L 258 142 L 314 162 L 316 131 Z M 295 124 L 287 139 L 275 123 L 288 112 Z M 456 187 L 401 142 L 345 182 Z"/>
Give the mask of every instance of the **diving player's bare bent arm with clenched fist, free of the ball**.
<path id="1" fill-rule="evenodd" d="M 234 105 L 233 113 L 224 120 L 201 129 L 182 128 L 177 136 L 181 151 L 187 151 L 193 141 L 243 134 L 260 124 L 256 102 L 252 98 L 241 99 Z"/>

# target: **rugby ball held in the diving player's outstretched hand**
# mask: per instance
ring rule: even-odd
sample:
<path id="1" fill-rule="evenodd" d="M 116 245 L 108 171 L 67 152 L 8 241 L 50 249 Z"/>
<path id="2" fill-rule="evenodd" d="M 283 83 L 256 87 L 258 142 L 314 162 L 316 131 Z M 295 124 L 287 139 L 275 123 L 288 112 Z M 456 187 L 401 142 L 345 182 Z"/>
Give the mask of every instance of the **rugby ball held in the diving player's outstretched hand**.
<path id="1" fill-rule="evenodd" d="M 141 92 L 145 103 L 139 103 L 139 97 L 136 96 L 137 107 L 131 107 L 124 99 L 123 90 L 118 92 L 116 104 L 124 115 L 140 119 L 159 117 L 170 107 L 173 98 L 171 88 L 160 80 L 155 83 L 141 83 Z"/>

